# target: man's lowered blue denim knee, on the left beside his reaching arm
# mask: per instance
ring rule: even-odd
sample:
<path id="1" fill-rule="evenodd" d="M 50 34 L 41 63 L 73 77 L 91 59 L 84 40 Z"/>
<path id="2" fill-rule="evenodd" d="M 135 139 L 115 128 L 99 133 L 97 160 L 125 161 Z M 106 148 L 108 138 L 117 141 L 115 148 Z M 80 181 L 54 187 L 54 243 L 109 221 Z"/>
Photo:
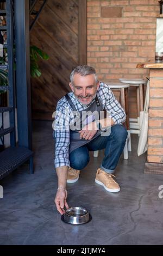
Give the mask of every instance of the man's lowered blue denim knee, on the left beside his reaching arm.
<path id="1" fill-rule="evenodd" d="M 76 151 L 76 150 L 74 150 Z M 84 169 L 90 161 L 89 154 L 73 152 L 69 156 L 70 166 L 74 169 Z"/>

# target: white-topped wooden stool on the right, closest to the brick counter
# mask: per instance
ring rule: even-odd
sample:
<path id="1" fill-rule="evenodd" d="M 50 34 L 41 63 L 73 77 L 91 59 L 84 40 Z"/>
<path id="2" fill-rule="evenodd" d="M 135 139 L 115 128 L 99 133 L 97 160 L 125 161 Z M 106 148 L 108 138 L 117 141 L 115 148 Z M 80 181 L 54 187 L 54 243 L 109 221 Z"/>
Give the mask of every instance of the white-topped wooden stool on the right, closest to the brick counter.
<path id="1" fill-rule="evenodd" d="M 128 83 L 130 86 L 136 87 L 136 101 L 137 101 L 137 118 L 130 118 L 130 133 L 140 133 L 140 111 L 143 111 L 145 87 L 147 83 L 143 79 L 127 79 L 120 78 L 121 83 Z"/>

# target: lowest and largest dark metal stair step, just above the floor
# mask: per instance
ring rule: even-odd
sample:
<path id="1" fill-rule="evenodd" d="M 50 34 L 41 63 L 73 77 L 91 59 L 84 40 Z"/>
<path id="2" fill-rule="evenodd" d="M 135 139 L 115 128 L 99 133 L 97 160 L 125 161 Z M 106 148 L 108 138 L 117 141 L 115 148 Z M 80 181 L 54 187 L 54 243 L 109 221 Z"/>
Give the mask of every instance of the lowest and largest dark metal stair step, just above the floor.
<path id="1" fill-rule="evenodd" d="M 31 156 L 33 156 L 33 152 L 22 147 L 8 148 L 2 151 L 0 153 L 0 179 L 26 162 Z"/>

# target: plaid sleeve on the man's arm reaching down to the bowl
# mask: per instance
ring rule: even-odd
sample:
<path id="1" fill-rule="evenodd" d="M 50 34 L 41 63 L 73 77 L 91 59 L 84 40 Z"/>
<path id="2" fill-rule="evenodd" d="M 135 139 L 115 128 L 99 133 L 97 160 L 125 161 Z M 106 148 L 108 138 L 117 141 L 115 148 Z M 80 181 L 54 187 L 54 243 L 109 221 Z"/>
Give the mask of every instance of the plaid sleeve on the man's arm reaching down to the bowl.
<path id="1" fill-rule="evenodd" d="M 70 144 L 70 127 L 69 114 L 66 112 L 64 102 L 59 101 L 57 111 L 55 112 L 53 138 L 55 141 L 55 168 L 61 166 L 70 166 L 69 162 L 69 144 Z"/>

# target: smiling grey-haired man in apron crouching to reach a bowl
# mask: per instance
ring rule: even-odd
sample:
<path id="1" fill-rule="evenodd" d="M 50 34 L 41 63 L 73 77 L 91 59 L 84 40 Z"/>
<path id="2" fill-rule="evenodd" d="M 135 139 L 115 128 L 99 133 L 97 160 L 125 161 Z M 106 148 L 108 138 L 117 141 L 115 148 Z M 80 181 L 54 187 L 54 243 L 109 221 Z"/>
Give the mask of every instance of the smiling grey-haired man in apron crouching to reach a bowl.
<path id="1" fill-rule="evenodd" d="M 120 191 L 112 173 L 127 138 L 127 130 L 122 125 L 126 114 L 109 86 L 98 82 L 95 69 L 78 66 L 71 72 L 70 81 L 72 92 L 58 101 L 54 122 L 58 175 L 55 204 L 60 214 L 68 208 L 66 182 L 79 179 L 80 170 L 89 162 L 89 151 L 105 149 L 95 182 L 109 192 Z M 107 117 L 99 118 L 101 112 Z"/>

